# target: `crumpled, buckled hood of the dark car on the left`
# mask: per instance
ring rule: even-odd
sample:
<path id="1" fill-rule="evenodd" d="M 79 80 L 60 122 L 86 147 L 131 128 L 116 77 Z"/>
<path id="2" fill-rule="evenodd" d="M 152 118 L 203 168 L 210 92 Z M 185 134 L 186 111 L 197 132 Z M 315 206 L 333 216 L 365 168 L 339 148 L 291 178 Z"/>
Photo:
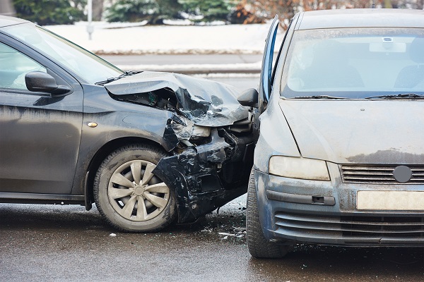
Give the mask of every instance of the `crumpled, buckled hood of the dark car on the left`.
<path id="1" fill-rule="evenodd" d="M 231 125 L 249 115 L 248 109 L 237 102 L 240 92 L 235 87 L 190 75 L 144 71 L 107 83 L 105 87 L 114 95 L 168 90 L 177 99 L 175 107 L 179 113 L 196 125 Z"/>

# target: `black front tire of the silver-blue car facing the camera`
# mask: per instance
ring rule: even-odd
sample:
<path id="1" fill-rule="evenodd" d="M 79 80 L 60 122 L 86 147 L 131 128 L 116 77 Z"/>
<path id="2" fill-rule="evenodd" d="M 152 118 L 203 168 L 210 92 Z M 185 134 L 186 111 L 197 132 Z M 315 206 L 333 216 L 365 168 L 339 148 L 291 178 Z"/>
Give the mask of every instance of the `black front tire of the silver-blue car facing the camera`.
<path id="1" fill-rule="evenodd" d="M 270 243 L 264 236 L 261 222 L 259 221 L 253 168 L 247 188 L 246 233 L 247 247 L 252 257 L 276 259 L 284 257 L 288 253 L 288 245 Z"/>

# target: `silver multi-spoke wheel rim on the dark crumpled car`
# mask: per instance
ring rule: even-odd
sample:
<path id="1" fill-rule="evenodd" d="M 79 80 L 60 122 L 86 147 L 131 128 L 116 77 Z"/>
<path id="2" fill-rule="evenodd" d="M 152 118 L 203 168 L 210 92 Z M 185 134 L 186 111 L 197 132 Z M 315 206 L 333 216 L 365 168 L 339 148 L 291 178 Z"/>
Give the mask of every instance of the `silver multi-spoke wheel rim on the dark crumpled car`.
<path id="1" fill-rule="evenodd" d="M 153 219 L 170 201 L 170 188 L 152 173 L 155 167 L 150 161 L 134 160 L 112 173 L 107 196 L 114 210 L 124 219 Z"/>

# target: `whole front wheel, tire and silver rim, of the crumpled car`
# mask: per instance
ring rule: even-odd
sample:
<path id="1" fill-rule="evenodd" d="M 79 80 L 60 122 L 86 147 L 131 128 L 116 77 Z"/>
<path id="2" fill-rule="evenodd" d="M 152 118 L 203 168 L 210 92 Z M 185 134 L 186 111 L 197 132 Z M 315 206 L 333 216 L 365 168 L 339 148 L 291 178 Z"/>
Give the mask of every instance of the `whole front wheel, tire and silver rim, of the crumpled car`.
<path id="1" fill-rule="evenodd" d="M 158 147 L 135 144 L 102 161 L 93 194 L 108 223 L 122 231 L 155 232 L 175 221 L 175 192 L 151 172 L 163 157 Z"/>

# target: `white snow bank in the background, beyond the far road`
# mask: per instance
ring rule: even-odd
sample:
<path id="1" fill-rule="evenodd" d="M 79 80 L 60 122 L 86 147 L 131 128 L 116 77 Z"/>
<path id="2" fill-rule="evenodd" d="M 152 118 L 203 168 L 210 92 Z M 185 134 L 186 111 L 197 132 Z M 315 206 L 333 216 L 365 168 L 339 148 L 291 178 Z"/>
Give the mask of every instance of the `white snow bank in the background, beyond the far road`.
<path id="1" fill-rule="evenodd" d="M 86 22 L 45 27 L 96 54 L 261 54 L 269 30 L 267 24 L 144 24 L 93 23 L 92 40 Z"/>

